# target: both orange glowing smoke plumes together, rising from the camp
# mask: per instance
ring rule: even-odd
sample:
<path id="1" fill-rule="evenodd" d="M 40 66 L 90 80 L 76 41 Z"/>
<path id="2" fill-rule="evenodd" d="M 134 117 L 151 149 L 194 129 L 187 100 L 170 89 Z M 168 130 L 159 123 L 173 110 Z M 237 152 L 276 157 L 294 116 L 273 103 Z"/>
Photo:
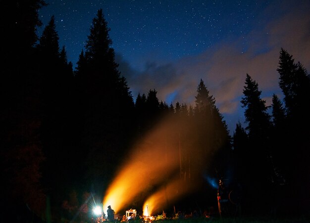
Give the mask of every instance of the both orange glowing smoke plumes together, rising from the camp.
<path id="1" fill-rule="evenodd" d="M 136 144 L 106 190 L 104 208 L 111 205 L 117 213 L 145 201 L 144 208 L 148 205 L 151 215 L 198 186 L 199 180 L 190 178 L 197 173 L 201 176 L 206 148 L 201 151 L 197 146 L 197 129 L 180 123 L 180 119 L 166 118 Z"/>

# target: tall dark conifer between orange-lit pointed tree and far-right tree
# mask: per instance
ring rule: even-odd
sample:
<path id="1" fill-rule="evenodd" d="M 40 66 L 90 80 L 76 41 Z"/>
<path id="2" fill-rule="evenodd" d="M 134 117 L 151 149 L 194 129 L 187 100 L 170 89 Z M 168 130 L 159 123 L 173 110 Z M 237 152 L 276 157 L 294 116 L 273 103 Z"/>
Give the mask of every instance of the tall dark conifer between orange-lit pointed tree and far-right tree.
<path id="1" fill-rule="evenodd" d="M 246 130 L 249 135 L 249 148 L 251 152 L 247 154 L 250 160 L 249 166 L 247 168 L 249 173 L 249 180 L 246 185 L 247 196 L 251 196 L 251 184 L 256 190 L 259 199 L 257 202 L 247 205 L 258 205 L 259 208 L 266 207 L 262 206 L 267 199 L 267 192 L 269 187 L 269 178 L 270 178 L 270 117 L 267 113 L 267 106 L 265 101 L 260 98 L 261 91 L 258 89 L 258 83 L 251 78 L 249 74 L 246 75 L 245 86 L 243 89 L 244 96 L 242 97 L 241 103 L 242 107 L 245 108 L 245 118 L 248 126 Z M 252 195 L 253 196 L 253 195 Z M 250 200 L 254 199 L 252 197 Z M 249 201 L 250 201 L 249 200 Z M 253 200 L 252 200 L 253 201 Z M 253 208 L 253 207 L 252 207 Z M 266 210 L 265 210 L 266 211 Z"/>

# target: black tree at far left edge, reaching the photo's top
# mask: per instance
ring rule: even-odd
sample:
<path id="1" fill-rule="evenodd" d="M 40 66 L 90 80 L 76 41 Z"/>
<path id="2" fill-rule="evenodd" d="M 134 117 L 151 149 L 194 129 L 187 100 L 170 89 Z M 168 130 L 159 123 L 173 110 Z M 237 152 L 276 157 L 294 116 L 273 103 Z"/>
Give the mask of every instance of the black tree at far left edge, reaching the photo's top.
<path id="1" fill-rule="evenodd" d="M 1 2 L 6 10 L 0 15 L 5 43 L 0 62 L 0 163 L 5 182 L 1 188 L 6 201 L 0 205 L 5 213 L 2 222 L 36 221 L 36 215 L 44 216 L 46 207 L 41 184 L 41 92 L 33 55 L 36 27 L 41 24 L 38 11 L 45 4 L 43 0 Z"/>

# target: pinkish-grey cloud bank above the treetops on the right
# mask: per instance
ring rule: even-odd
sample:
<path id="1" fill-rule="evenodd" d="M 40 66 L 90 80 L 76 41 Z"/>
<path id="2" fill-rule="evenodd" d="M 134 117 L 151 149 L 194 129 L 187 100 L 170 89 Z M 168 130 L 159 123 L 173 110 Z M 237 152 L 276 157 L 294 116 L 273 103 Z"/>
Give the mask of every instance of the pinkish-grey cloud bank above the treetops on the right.
<path id="1" fill-rule="evenodd" d="M 303 0 L 298 4 L 290 1 L 270 4 L 259 15 L 258 23 L 253 24 L 253 30 L 239 39 L 228 37 L 199 55 L 178 61 L 148 63 L 143 71 L 134 70 L 120 60 L 120 70 L 126 74 L 133 96 L 156 89 L 159 100 L 166 101 L 175 92 L 174 101 L 167 103 L 193 104 L 197 86 L 203 79 L 225 117 L 240 110 L 247 73 L 258 82 L 262 92 L 270 92 L 264 97 L 271 97 L 273 92 L 281 94 L 276 71 L 281 47 L 306 68 L 310 67 L 309 11 L 309 2 Z"/>

